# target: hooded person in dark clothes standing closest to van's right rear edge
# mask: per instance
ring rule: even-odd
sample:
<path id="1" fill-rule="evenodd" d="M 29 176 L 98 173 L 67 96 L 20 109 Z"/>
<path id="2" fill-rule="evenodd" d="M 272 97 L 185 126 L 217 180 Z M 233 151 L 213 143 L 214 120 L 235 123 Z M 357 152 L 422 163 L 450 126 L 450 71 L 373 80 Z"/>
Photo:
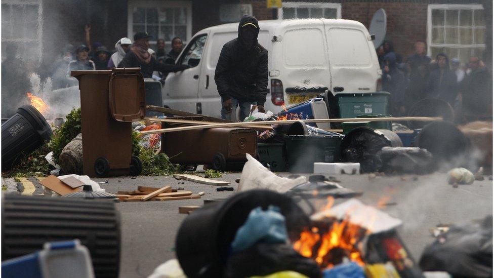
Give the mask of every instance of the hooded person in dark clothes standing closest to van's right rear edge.
<path id="1" fill-rule="evenodd" d="M 383 91 L 391 94 L 392 114 L 398 116 L 405 113 L 404 91 L 405 76 L 396 65 L 396 55 L 390 52 L 384 55 Z"/>

